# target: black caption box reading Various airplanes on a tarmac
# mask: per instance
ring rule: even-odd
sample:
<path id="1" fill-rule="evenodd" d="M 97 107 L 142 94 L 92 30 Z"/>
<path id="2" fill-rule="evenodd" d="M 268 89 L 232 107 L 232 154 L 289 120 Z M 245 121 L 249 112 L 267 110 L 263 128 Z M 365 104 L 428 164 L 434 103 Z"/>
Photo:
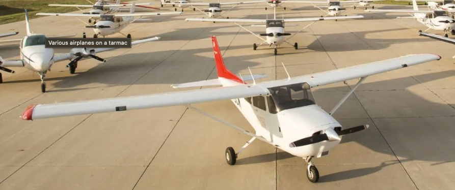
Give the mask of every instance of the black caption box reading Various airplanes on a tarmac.
<path id="1" fill-rule="evenodd" d="M 130 38 L 46 38 L 45 48 L 131 48 Z"/>

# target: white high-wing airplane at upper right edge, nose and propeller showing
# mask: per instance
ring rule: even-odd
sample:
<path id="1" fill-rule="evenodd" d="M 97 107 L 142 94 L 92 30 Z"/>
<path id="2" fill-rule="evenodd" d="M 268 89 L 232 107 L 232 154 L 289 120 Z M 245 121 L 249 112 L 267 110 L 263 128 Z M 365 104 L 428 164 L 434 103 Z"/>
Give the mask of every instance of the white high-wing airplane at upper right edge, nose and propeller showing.
<path id="1" fill-rule="evenodd" d="M 413 18 L 417 19 L 420 23 L 424 24 L 429 29 L 443 30 L 444 36 L 448 37 L 447 32 L 450 31 L 452 35 L 455 35 L 455 20 L 448 16 L 449 12 L 452 11 L 432 11 L 432 10 L 419 10 L 417 7 L 416 0 L 413 0 L 413 10 L 405 9 L 374 9 L 365 10 L 367 12 L 390 12 L 390 13 L 414 13 L 411 17 L 397 17 L 397 18 Z"/>

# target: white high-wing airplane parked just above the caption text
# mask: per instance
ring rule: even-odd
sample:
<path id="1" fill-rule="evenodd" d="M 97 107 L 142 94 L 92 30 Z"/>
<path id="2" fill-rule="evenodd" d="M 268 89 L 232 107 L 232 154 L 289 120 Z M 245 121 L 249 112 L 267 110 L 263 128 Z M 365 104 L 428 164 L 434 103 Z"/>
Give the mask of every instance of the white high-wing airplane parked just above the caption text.
<path id="1" fill-rule="evenodd" d="M 86 28 L 93 28 L 95 34 L 93 38 L 98 38 L 98 36 L 109 36 L 116 33 L 120 33 L 127 38 L 131 38 L 131 35 L 125 35 L 120 31 L 134 22 L 135 20 L 141 18 L 142 16 L 155 16 L 155 15 L 176 15 L 182 13 L 175 12 L 161 12 L 161 13 L 135 13 L 135 3 L 131 4 L 131 10 L 129 14 L 109 14 L 109 15 L 89 15 L 89 14 L 74 14 L 74 13 L 37 13 L 36 15 L 46 15 L 46 16 L 73 16 L 73 17 L 97 17 L 99 21 L 94 25 L 85 26 Z M 135 18 L 138 17 L 138 18 Z M 81 20 L 82 21 L 82 20 Z"/>

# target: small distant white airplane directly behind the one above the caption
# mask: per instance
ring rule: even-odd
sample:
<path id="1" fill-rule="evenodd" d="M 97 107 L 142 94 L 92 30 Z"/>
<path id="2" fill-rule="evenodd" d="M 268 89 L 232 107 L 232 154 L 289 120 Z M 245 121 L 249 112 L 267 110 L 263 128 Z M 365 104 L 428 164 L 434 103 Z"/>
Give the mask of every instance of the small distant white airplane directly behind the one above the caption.
<path id="1" fill-rule="evenodd" d="M 96 2 L 95 5 L 61 5 L 61 4 L 50 4 L 49 6 L 56 6 L 56 7 L 75 7 L 81 11 L 81 8 L 79 7 L 85 7 L 85 8 L 92 8 L 89 12 L 84 12 L 83 14 L 97 14 L 97 15 L 106 15 L 106 14 L 113 14 L 117 12 L 120 7 L 124 6 L 132 6 L 133 4 L 120 4 L 120 0 L 117 0 L 115 5 L 106 5 L 105 2 L 102 0 Z M 137 5 L 151 5 L 151 3 L 142 3 L 142 4 L 137 4 Z M 94 19 L 94 24 L 96 24 L 96 19 L 98 17 L 91 17 L 89 18 L 89 23 L 92 23 L 92 19 Z"/>

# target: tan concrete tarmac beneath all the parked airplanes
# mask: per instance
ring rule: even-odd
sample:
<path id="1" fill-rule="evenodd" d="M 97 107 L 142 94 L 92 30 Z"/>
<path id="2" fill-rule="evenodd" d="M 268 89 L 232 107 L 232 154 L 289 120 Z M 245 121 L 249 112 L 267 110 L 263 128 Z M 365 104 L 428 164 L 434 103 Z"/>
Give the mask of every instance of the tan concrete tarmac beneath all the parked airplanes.
<path id="1" fill-rule="evenodd" d="M 232 0 L 233 1 L 233 0 Z M 145 2 L 145 1 L 139 1 Z M 223 1 L 224 2 L 224 1 Z M 153 2 L 159 6 L 159 2 Z M 278 17 L 318 17 L 325 13 L 303 4 L 284 4 Z M 228 6 L 225 6 L 228 7 Z M 241 5 L 230 18 L 271 18 L 265 4 Z M 375 8 L 410 6 L 375 5 Z M 165 6 L 162 11 L 174 11 Z M 186 22 L 204 17 L 157 16 L 132 23 L 122 32 L 133 40 L 161 40 L 97 54 L 108 59 L 79 61 L 69 74 L 68 61 L 56 63 L 41 93 L 39 75 L 24 68 L 3 73 L 0 84 L 0 189 L 453 189 L 455 186 L 454 46 L 419 37 L 424 25 L 405 14 L 367 13 L 364 19 L 315 22 L 283 45 L 278 55 L 233 23 Z M 47 36 L 93 31 L 71 17 L 33 19 L 35 33 Z M 308 23 L 287 26 L 295 33 Z M 244 23 L 248 25 L 248 23 Z M 262 27 L 249 27 L 262 33 Z M 26 34 L 24 22 L 5 24 Z M 429 30 L 442 35 L 441 31 Z M 227 68 L 233 73 L 264 73 L 259 81 L 365 64 L 413 53 L 442 56 L 415 67 L 368 77 L 334 114 L 344 128 L 369 124 L 366 131 L 343 137 L 329 156 L 313 159 L 318 183 L 306 178 L 306 164 L 266 143 L 255 141 L 237 164 L 226 164 L 224 151 L 238 150 L 250 138 L 183 106 L 23 121 L 30 104 L 125 97 L 168 92 L 170 84 L 216 78 L 210 36 L 216 35 Z M 112 37 L 123 37 L 121 34 Z M 2 39 L 3 40 L 3 39 Z M 17 43 L 0 46 L 0 56 L 17 59 Z M 57 49 L 64 53 L 69 49 Z M 257 81 L 257 82 L 259 82 Z M 313 89 L 317 103 L 330 111 L 358 80 Z M 194 105 L 233 124 L 253 130 L 229 100 Z"/>

